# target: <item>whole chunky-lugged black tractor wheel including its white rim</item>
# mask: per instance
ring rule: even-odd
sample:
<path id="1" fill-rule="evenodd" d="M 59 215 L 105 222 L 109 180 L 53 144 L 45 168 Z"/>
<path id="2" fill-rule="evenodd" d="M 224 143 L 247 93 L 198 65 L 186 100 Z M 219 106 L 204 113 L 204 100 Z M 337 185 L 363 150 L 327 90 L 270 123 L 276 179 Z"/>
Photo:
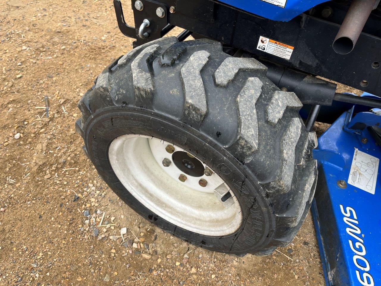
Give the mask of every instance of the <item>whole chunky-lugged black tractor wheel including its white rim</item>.
<path id="1" fill-rule="evenodd" d="M 270 255 L 291 243 L 309 211 L 317 138 L 295 93 L 266 71 L 208 39 L 141 45 L 78 103 L 85 154 L 126 204 L 171 235 Z"/>

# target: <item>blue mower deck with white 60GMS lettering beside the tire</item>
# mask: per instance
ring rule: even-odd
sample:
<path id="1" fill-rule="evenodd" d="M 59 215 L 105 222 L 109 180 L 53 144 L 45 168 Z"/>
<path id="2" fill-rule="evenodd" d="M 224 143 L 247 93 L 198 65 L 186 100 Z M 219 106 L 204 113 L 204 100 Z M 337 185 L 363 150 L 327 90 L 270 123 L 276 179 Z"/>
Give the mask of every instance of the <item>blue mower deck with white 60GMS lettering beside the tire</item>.
<path id="1" fill-rule="evenodd" d="M 380 124 L 381 116 L 372 115 L 344 112 L 314 150 L 319 177 L 312 213 L 327 286 L 381 284 L 381 168 L 376 170 L 375 194 L 337 184 L 348 182 L 355 148 L 381 159 L 381 148 L 366 128 L 348 128 L 354 121 Z"/>

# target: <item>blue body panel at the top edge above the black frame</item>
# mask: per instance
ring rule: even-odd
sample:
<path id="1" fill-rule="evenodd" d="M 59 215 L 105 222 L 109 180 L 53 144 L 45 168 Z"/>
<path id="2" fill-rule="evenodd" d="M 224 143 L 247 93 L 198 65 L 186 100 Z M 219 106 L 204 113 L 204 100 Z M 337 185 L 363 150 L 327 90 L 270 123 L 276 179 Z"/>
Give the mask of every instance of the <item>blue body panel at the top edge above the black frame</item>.
<path id="1" fill-rule="evenodd" d="M 220 2 L 237 7 L 239 9 L 248 11 L 250 13 L 262 16 L 275 21 L 290 21 L 299 14 L 307 11 L 308 9 L 327 2 L 326 0 L 284 0 L 285 7 L 268 3 L 268 2 L 281 2 L 282 0 L 220 0 Z"/>

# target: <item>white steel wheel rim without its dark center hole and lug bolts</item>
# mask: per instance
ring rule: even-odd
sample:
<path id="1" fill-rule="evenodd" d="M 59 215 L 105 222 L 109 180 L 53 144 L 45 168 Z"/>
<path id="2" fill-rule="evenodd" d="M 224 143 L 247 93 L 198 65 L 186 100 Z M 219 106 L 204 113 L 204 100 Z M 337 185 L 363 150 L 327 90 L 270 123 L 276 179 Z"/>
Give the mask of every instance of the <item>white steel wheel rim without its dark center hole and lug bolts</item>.
<path id="1" fill-rule="evenodd" d="M 111 142 L 109 161 L 123 186 L 166 221 L 207 236 L 234 233 L 241 225 L 242 213 L 227 184 L 211 169 L 211 176 L 186 175 L 186 181 L 181 182 L 179 175 L 184 173 L 166 151 L 167 145 L 173 146 L 174 152 L 184 151 L 158 138 L 122 135 Z M 165 158 L 171 161 L 169 167 L 162 164 Z M 207 186 L 199 185 L 201 178 L 207 180 Z"/>

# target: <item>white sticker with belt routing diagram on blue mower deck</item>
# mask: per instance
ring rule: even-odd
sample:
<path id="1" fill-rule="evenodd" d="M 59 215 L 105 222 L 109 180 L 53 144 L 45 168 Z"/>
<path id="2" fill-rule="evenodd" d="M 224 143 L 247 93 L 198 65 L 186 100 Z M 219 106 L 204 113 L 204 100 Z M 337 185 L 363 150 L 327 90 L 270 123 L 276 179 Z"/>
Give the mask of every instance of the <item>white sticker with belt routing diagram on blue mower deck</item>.
<path id="1" fill-rule="evenodd" d="M 375 194 L 379 159 L 355 149 L 348 184 Z"/>

